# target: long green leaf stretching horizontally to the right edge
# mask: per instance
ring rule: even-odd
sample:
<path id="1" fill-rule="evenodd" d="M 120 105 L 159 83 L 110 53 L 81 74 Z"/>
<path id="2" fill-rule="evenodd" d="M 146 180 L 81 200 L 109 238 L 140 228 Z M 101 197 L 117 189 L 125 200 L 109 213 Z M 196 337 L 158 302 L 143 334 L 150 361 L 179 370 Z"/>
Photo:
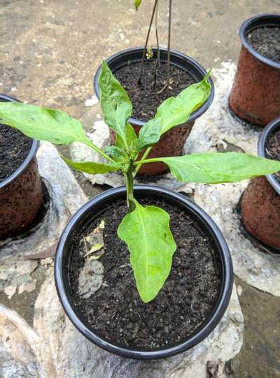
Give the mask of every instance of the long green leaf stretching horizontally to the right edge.
<path id="1" fill-rule="evenodd" d="M 149 160 L 166 163 L 172 175 L 181 182 L 204 184 L 238 182 L 250 177 L 270 175 L 280 170 L 280 161 L 237 152 L 191 154 Z"/>

